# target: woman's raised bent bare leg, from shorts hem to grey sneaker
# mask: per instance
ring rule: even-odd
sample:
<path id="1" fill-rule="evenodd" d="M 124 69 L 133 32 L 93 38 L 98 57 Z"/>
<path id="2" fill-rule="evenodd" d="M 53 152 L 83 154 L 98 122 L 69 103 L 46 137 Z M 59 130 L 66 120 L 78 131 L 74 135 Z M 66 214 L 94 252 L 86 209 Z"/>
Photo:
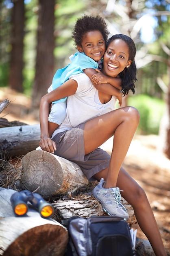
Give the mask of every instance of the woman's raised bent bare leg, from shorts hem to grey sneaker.
<path id="1" fill-rule="evenodd" d="M 84 130 L 85 154 L 92 152 L 114 135 L 105 188 L 116 187 L 120 167 L 139 123 L 135 108 L 125 107 L 87 121 Z"/>

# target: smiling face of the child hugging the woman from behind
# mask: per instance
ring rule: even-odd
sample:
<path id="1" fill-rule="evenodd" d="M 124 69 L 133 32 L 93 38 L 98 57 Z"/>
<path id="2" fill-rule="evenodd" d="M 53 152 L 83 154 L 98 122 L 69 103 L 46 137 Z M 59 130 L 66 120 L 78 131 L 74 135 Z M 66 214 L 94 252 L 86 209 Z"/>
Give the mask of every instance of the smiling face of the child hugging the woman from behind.
<path id="1" fill-rule="evenodd" d="M 81 46 L 77 48 L 79 52 L 84 52 L 94 61 L 99 61 L 105 53 L 105 40 L 100 31 L 89 31 L 84 34 Z"/>

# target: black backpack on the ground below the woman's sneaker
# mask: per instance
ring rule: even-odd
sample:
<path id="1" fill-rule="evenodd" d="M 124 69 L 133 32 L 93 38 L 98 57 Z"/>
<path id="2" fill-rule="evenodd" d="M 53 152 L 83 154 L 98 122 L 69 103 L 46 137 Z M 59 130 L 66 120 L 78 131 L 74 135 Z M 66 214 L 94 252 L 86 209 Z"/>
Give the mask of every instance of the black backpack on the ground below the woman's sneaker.
<path id="1" fill-rule="evenodd" d="M 92 216 L 72 217 L 65 256 L 134 256 L 129 224 L 122 218 Z"/>

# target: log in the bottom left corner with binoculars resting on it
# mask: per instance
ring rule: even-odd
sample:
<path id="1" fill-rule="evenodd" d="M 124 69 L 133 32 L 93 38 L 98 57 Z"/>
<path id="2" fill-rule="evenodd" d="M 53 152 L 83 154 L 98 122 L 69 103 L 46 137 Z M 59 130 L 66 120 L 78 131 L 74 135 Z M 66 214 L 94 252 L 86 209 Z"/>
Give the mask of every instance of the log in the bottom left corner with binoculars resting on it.
<path id="1" fill-rule="evenodd" d="M 10 202 L 15 192 L 0 188 L 0 255 L 64 255 L 67 229 L 51 218 L 41 218 L 33 209 L 29 209 L 26 216 L 16 217 Z"/>

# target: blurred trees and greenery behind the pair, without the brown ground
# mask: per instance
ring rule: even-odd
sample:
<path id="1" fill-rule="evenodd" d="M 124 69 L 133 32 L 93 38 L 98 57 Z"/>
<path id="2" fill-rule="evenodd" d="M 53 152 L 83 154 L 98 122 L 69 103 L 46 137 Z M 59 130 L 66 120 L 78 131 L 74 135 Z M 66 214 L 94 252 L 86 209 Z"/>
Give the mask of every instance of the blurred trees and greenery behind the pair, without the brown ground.
<path id="1" fill-rule="evenodd" d="M 72 29 L 83 14 L 100 14 L 110 36 L 135 41 L 136 93 L 124 104 L 139 110 L 139 134 L 162 134 L 170 158 L 170 0 L 1 0 L 0 87 L 31 97 L 36 113 L 55 71 L 76 52 Z"/>

